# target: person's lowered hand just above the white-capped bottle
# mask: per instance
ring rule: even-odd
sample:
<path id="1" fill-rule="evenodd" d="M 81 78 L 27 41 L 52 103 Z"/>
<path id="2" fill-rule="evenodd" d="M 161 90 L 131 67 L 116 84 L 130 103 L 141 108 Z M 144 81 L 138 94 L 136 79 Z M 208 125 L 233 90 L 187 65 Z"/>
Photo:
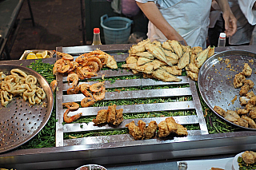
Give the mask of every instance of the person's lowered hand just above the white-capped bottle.
<path id="1" fill-rule="evenodd" d="M 230 37 L 237 31 L 237 19 L 231 11 L 223 12 L 222 14 L 225 21 L 226 37 Z"/>

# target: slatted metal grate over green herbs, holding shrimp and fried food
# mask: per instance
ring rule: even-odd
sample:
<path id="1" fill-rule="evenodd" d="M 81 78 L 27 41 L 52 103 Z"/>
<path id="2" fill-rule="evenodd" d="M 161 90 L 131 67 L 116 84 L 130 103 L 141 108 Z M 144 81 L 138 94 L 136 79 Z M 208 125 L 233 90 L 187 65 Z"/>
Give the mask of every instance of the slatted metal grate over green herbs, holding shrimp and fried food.
<path id="1" fill-rule="evenodd" d="M 74 57 L 77 57 L 80 53 L 86 53 L 94 50 L 94 46 L 80 46 L 80 47 L 58 47 L 57 50 L 64 53 L 70 53 Z M 96 49 L 96 48 L 95 48 Z M 117 49 L 111 48 L 111 45 L 102 45 L 101 48 L 103 51 L 110 53 L 114 56 L 116 61 L 126 61 L 126 57 L 128 56 L 127 50 L 130 49 L 130 45 L 124 45 Z M 123 53 L 118 53 L 122 51 Z M 57 59 L 59 59 L 57 57 Z M 118 69 L 118 70 L 100 70 L 98 72 L 98 77 L 100 78 L 102 75 L 104 77 L 120 77 L 120 76 L 130 76 L 133 75 L 130 71 L 126 71 L 126 69 Z M 140 105 L 118 105 L 117 109 L 123 109 L 123 114 L 130 113 L 148 113 L 148 112 L 161 112 L 161 111 L 175 111 L 175 110 L 195 110 L 196 115 L 191 116 L 178 116 L 174 117 L 175 121 L 177 121 L 181 125 L 199 125 L 200 130 L 191 130 L 189 131 L 189 135 L 203 135 L 208 134 L 208 130 L 206 127 L 206 122 L 202 113 L 202 106 L 199 101 L 198 91 L 196 89 L 196 85 L 194 81 L 191 81 L 188 77 L 180 77 L 182 81 L 180 82 L 162 82 L 155 81 L 152 79 L 130 79 L 130 80 L 117 80 L 114 83 L 110 83 L 110 81 L 106 81 L 106 90 L 107 89 L 116 89 L 116 88 L 130 88 L 130 87 L 146 87 L 146 86 L 154 86 L 154 85 L 188 85 L 189 87 L 185 88 L 173 88 L 173 89 L 146 89 L 146 90 L 134 90 L 134 91 L 116 91 L 116 92 L 106 92 L 106 97 L 103 101 L 114 101 L 114 100 L 133 100 L 133 99 L 151 99 L 151 98 L 166 98 L 166 97 L 192 97 L 192 101 L 174 101 L 174 102 L 166 102 L 166 103 L 154 103 L 154 104 L 140 104 Z M 70 102 L 82 101 L 84 95 L 82 93 L 66 95 L 65 92 L 70 88 L 70 85 L 66 82 L 66 77 L 62 77 L 62 75 L 57 75 L 58 81 L 58 91 L 56 97 L 56 105 L 57 105 L 57 134 L 56 134 L 56 146 L 71 146 L 71 145 L 81 145 L 81 144 L 101 144 L 108 142 L 121 142 L 121 141 L 130 141 L 134 140 L 132 136 L 129 134 L 123 135 L 112 135 L 112 136 L 90 136 L 83 137 L 78 139 L 69 139 L 64 140 L 63 134 L 65 132 L 95 132 L 102 130 L 113 130 L 115 129 L 123 129 L 126 128 L 125 125 L 130 121 L 135 121 L 137 124 L 138 120 L 145 121 L 149 123 L 150 121 L 164 121 L 166 117 L 154 117 L 154 118 L 140 118 L 133 120 L 124 120 L 121 125 L 118 127 L 113 127 L 110 125 L 104 126 L 94 126 L 93 122 L 90 123 L 76 123 L 76 124 L 65 124 L 62 125 L 63 122 L 63 113 L 66 109 L 62 108 L 62 102 Z M 86 82 L 88 84 L 94 84 L 96 81 Z M 84 82 L 80 82 L 82 84 Z M 107 109 L 105 107 L 88 107 L 88 108 L 79 108 L 77 111 L 70 113 L 72 116 L 76 113 L 82 113 L 83 117 L 87 116 L 96 116 L 98 110 Z"/>

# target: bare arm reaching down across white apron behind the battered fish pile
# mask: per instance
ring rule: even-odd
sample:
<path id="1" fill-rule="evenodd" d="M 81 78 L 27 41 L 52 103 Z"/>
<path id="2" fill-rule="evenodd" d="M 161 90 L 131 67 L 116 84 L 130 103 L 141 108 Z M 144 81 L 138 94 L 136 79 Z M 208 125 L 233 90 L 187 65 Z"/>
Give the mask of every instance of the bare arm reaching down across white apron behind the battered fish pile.
<path id="1" fill-rule="evenodd" d="M 158 6 L 154 2 L 141 3 L 137 2 L 138 7 L 146 15 L 146 17 L 166 36 L 168 40 L 186 41 L 170 24 L 163 18 L 161 12 L 158 10 Z"/>

